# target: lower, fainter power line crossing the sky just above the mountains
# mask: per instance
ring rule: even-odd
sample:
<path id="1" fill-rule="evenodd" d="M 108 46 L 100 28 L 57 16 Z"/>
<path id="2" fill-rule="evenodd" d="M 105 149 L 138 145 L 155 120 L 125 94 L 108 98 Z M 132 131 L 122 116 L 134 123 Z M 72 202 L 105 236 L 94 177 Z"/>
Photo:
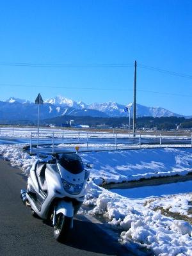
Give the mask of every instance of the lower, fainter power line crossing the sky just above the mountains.
<path id="1" fill-rule="evenodd" d="M 98 90 L 98 91 L 120 91 L 120 92 L 132 92 L 132 89 L 115 89 L 114 88 L 93 88 L 93 87 L 69 87 L 69 86 L 45 86 L 45 85 L 32 85 L 32 84 L 0 84 L 0 86 L 10 86 L 10 87 L 26 87 L 26 88 L 60 88 L 60 89 L 69 89 L 69 90 Z M 162 94 L 162 95 L 173 95 L 173 96 L 181 96 L 181 97 L 192 97 L 192 95 L 187 94 L 179 94 L 179 93 L 169 93 L 169 92 L 155 92 L 150 90 L 142 90 L 138 89 L 138 92 L 147 92 L 147 93 L 156 93 L 156 94 Z"/>

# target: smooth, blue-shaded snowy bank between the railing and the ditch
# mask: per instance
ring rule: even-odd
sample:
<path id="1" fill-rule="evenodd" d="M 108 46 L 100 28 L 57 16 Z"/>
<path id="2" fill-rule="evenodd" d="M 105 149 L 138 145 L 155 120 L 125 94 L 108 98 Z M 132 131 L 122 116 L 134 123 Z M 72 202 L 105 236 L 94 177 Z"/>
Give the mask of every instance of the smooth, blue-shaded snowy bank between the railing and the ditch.
<path id="1" fill-rule="evenodd" d="M 100 185 L 192 172 L 191 148 L 154 148 L 81 154 L 94 163 L 92 179 Z"/>

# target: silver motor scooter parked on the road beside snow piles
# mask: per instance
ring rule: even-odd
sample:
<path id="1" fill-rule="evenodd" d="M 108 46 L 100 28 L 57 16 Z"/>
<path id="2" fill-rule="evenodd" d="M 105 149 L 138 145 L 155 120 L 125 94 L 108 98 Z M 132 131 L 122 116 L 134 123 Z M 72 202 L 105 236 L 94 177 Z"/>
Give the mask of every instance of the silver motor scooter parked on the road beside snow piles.
<path id="1" fill-rule="evenodd" d="M 63 241 L 73 227 L 89 175 L 77 154 L 62 154 L 47 163 L 37 160 L 31 167 L 27 190 L 20 191 L 22 202 L 31 207 L 33 214 L 52 221 L 57 241 Z"/>

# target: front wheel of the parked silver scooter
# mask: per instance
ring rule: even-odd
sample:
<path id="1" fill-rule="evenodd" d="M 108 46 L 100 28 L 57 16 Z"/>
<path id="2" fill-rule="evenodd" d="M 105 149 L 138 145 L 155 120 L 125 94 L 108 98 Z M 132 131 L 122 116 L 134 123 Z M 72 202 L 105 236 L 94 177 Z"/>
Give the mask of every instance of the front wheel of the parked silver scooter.
<path id="1" fill-rule="evenodd" d="M 58 242 L 65 241 L 67 238 L 68 232 L 70 232 L 72 218 L 63 215 L 62 213 L 56 216 L 56 225 L 53 228 L 54 238 Z"/>

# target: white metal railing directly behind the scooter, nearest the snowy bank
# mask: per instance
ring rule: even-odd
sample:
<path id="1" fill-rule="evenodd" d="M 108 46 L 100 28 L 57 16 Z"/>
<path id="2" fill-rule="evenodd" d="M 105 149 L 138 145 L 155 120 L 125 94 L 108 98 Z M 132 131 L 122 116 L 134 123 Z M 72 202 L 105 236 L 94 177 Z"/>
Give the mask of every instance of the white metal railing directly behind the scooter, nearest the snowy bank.
<path id="1" fill-rule="evenodd" d="M 50 143 L 47 143 L 47 138 L 42 138 L 42 141 L 46 141 L 46 143 L 42 143 L 41 145 L 36 145 L 37 152 L 38 148 L 44 147 L 46 145 L 50 145 L 52 148 L 52 154 L 56 151 L 62 151 L 63 149 L 75 148 L 75 146 L 81 147 L 81 150 L 111 150 L 111 149 L 126 149 L 131 148 L 132 146 L 143 147 L 145 145 L 158 145 L 159 147 L 163 147 L 164 145 L 191 145 L 192 147 L 192 134 L 191 137 L 186 136 L 164 136 L 161 133 L 158 136 L 142 136 L 141 134 L 136 138 L 125 136 L 125 134 L 93 134 L 92 132 L 87 131 L 81 134 L 65 134 L 62 137 L 63 142 L 60 140 L 59 134 L 52 132 L 52 137 L 49 136 Z M 67 135 L 67 136 L 66 136 Z M 31 132 L 30 139 L 30 153 L 33 151 L 33 141 L 36 139 L 36 134 Z"/>

